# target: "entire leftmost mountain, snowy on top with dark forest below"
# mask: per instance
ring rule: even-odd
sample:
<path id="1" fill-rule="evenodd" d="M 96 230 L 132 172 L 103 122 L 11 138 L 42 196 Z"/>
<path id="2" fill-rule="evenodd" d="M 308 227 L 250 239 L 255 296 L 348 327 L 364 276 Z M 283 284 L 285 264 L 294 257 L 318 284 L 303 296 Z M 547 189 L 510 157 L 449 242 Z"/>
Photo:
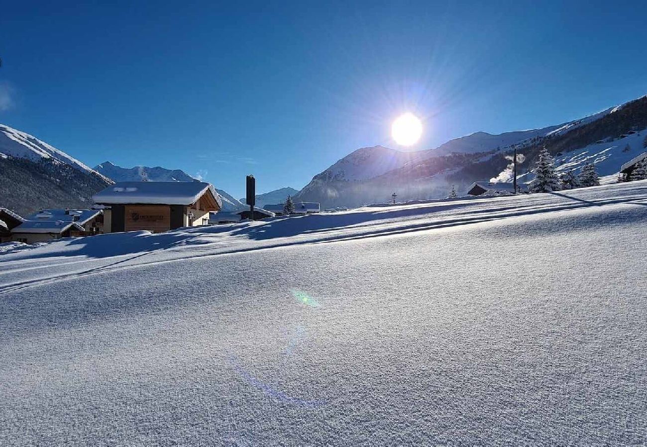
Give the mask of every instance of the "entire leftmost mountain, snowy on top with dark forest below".
<path id="1" fill-rule="evenodd" d="M 39 208 L 92 205 L 112 181 L 38 138 L 0 125 L 0 207 L 18 214 Z"/>

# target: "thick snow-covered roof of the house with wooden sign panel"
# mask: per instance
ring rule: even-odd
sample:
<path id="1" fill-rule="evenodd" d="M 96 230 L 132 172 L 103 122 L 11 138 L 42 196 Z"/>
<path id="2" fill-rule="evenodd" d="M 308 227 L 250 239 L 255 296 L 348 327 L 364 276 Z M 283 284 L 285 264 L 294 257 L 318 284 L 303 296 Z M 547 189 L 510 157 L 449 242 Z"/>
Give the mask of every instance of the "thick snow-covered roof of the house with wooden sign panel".
<path id="1" fill-rule="evenodd" d="M 155 203 L 191 205 L 211 191 L 219 207 L 223 201 L 211 183 L 205 182 L 118 182 L 92 196 L 96 203 Z"/>

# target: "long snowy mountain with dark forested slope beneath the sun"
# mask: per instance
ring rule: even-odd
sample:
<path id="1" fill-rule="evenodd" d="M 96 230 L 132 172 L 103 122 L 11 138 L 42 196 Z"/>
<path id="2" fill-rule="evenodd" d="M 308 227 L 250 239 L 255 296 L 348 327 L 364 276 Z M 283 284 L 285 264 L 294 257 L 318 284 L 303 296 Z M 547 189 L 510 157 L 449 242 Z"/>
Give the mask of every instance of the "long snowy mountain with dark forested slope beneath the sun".
<path id="1" fill-rule="evenodd" d="M 314 176 L 295 199 L 320 202 L 322 207 L 353 207 L 386 202 L 394 192 L 403 201 L 441 198 L 452 185 L 465 192 L 477 180 L 506 174 L 511 180 L 506 157 L 515 148 L 525 154 L 519 171 L 523 174 L 532 168 L 543 145 L 558 163 L 578 168 L 584 160 L 593 160 L 601 174 L 612 174 L 642 149 L 639 135 L 630 132 L 647 127 L 646 103 L 646 98 L 640 98 L 542 129 L 499 135 L 476 132 L 426 151 L 400 152 L 382 146 L 358 149 Z M 630 135 L 634 136 L 619 142 Z"/>

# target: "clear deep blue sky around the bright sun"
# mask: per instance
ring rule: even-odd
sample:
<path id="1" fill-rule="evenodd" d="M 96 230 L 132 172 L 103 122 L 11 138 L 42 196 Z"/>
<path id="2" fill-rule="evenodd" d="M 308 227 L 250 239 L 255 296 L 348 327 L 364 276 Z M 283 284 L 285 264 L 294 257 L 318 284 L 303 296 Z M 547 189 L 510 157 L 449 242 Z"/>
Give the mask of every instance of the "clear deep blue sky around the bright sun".
<path id="1" fill-rule="evenodd" d="M 644 1 L 102 3 L 3 4 L 0 123 L 237 197 L 397 148 L 402 112 L 428 149 L 647 93 Z"/>

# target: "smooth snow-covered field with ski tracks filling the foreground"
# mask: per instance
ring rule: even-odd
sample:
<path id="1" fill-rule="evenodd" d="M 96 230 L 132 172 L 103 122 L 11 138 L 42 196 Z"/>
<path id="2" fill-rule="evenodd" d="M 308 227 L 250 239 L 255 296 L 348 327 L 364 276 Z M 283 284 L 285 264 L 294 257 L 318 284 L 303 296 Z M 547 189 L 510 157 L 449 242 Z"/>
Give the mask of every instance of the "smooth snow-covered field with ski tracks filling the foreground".
<path id="1" fill-rule="evenodd" d="M 0 255 L 0 444 L 644 444 L 647 181 Z"/>

